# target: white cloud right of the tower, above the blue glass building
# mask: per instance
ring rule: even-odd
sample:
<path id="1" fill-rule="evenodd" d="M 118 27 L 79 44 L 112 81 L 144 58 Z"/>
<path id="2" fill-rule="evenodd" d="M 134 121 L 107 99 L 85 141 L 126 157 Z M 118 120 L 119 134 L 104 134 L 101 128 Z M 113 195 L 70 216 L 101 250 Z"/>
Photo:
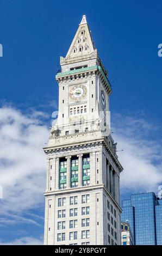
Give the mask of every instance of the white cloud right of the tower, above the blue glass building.
<path id="1" fill-rule="evenodd" d="M 121 193 L 157 192 L 162 181 L 161 143 L 157 135 L 160 127 L 147 123 L 145 119 L 115 118 L 114 135 L 117 153 L 124 168 L 121 173 Z"/>

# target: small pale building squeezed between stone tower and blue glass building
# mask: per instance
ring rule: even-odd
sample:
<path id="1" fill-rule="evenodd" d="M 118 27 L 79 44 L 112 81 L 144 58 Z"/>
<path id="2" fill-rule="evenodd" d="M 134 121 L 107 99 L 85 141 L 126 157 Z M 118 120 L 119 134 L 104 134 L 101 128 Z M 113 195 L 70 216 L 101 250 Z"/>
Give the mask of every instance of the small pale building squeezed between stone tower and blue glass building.
<path id="1" fill-rule="evenodd" d="M 121 244 L 134 245 L 134 237 L 128 222 L 121 223 Z"/>

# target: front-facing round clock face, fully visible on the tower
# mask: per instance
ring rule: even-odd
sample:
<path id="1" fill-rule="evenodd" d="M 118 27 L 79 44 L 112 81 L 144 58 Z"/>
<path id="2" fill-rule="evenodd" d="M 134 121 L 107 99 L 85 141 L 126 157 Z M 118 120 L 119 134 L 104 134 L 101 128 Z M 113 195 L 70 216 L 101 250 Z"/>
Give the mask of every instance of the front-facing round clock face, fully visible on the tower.
<path id="1" fill-rule="evenodd" d="M 72 100 L 82 100 L 86 96 L 87 89 L 83 84 L 78 84 L 77 86 L 73 86 L 70 88 L 70 98 Z"/>

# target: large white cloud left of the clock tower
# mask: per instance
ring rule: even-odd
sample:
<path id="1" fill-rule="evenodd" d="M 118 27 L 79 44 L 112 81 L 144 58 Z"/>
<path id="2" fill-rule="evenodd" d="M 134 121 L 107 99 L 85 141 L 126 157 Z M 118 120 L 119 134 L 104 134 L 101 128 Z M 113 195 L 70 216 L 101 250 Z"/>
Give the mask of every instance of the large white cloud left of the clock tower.
<path id="1" fill-rule="evenodd" d="M 13 107 L 0 108 L 1 214 L 21 215 L 43 203 L 46 156 L 42 147 L 49 135 L 41 122 L 44 117 L 42 112 L 25 115 Z"/>

